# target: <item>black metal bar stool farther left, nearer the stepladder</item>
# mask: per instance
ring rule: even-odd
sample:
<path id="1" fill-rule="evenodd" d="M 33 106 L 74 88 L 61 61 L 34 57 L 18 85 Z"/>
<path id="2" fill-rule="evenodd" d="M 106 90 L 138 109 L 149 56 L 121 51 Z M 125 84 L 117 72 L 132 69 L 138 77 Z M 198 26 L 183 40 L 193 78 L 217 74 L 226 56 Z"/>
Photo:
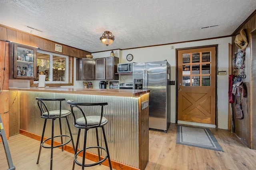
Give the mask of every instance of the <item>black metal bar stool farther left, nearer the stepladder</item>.
<path id="1" fill-rule="evenodd" d="M 57 147 L 61 146 L 62 147 L 62 151 L 63 151 L 63 146 L 68 144 L 70 141 L 72 141 L 73 149 L 75 148 L 74 140 L 73 140 L 73 137 L 72 137 L 70 125 L 68 123 L 68 118 L 67 118 L 67 116 L 70 115 L 71 112 L 68 111 L 68 110 L 62 110 L 61 109 L 62 101 L 66 101 L 66 99 L 54 99 L 54 98 L 36 97 L 36 100 L 37 100 L 37 104 L 38 104 L 38 107 L 39 107 L 40 112 L 41 112 L 41 118 L 45 119 L 44 120 L 44 128 L 43 128 L 42 138 L 41 138 L 41 144 L 40 144 L 40 150 L 39 150 L 38 159 L 37 159 L 36 164 L 39 163 L 42 147 L 43 148 L 51 148 L 51 165 L 50 165 L 50 169 L 52 170 L 53 148 L 57 148 Z M 58 110 L 49 111 L 48 107 L 46 106 L 46 102 L 45 101 L 49 101 L 49 102 L 54 102 L 54 101 L 57 102 L 58 101 L 59 102 L 59 109 Z M 62 134 L 61 118 L 66 118 L 67 125 L 68 125 L 68 130 L 69 130 L 70 135 Z M 52 119 L 52 135 L 51 135 L 51 137 L 49 137 L 46 140 L 44 140 L 44 131 L 45 131 L 46 122 L 47 122 L 48 119 Z M 60 121 L 60 135 L 54 136 L 54 121 L 56 119 L 59 119 L 59 121 Z M 67 141 L 63 143 L 63 137 L 64 136 L 67 138 Z M 57 137 L 60 137 L 61 144 L 58 144 L 58 145 L 54 146 L 54 138 L 57 138 Z M 48 141 L 48 140 L 51 140 L 51 146 L 45 146 L 44 145 L 44 143 L 46 141 Z"/>

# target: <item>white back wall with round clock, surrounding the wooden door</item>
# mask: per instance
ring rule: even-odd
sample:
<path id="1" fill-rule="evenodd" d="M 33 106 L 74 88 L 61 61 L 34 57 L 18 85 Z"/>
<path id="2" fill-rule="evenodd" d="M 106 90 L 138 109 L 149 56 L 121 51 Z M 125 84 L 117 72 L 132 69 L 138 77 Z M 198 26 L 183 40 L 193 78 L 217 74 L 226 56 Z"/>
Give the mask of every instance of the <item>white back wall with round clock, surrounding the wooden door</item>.
<path id="1" fill-rule="evenodd" d="M 226 75 L 217 75 L 217 115 L 218 128 L 228 129 L 228 43 L 231 43 L 232 38 L 218 38 L 212 40 L 177 43 L 171 45 L 160 45 L 154 47 L 144 47 L 136 49 L 118 50 L 115 51 L 119 57 L 119 63 L 128 63 L 126 55 L 132 54 L 134 59 L 131 62 L 147 62 L 147 61 L 162 61 L 167 60 L 171 65 L 170 80 L 176 81 L 176 48 L 197 47 L 203 45 L 218 45 L 218 65 L 217 70 L 226 70 Z M 111 51 L 100 53 L 92 53 L 95 57 L 108 57 Z M 119 77 L 121 82 L 130 81 L 131 77 Z M 176 86 L 171 86 L 171 122 L 176 120 Z"/>

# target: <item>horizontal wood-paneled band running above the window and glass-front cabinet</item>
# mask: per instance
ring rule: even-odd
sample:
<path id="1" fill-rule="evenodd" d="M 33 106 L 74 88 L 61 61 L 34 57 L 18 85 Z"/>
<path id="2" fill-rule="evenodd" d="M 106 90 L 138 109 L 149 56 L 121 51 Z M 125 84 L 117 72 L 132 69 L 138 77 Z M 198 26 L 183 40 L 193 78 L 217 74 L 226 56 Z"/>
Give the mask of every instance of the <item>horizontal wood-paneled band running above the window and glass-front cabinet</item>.
<path id="1" fill-rule="evenodd" d="M 12 42 L 22 43 L 25 45 L 32 45 L 35 47 L 39 47 L 41 50 L 44 50 L 44 51 L 68 55 L 70 57 L 82 58 L 82 57 L 85 57 L 85 55 L 87 55 L 87 54 L 91 54 L 88 51 L 70 47 L 68 45 L 64 45 L 61 43 L 53 42 L 51 40 L 40 38 L 33 34 L 28 34 L 26 32 L 15 30 L 13 28 L 8 28 L 3 25 L 0 25 L 0 40 L 2 40 L 2 41 L 8 40 L 8 41 L 12 41 Z M 59 45 L 62 45 L 61 53 L 55 51 L 56 43 Z"/>

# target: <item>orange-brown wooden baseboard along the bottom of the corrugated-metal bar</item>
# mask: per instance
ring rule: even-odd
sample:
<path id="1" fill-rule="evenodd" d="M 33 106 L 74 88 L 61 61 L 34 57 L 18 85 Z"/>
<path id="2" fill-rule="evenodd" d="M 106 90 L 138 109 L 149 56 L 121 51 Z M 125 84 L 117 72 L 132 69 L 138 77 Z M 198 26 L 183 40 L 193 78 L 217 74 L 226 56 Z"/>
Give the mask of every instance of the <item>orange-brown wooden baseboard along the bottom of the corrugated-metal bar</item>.
<path id="1" fill-rule="evenodd" d="M 20 129 L 20 134 L 41 141 L 41 136 L 40 135 L 31 133 L 31 132 L 27 132 L 26 130 Z M 46 139 L 46 137 L 44 137 L 44 140 L 45 139 Z M 51 140 L 46 141 L 46 143 L 51 144 Z M 60 142 L 54 141 L 54 145 L 58 145 L 58 144 L 60 144 Z M 59 147 L 59 148 L 61 149 L 61 147 Z M 65 145 L 63 147 L 63 149 L 67 152 L 70 152 L 70 153 L 74 154 L 74 150 L 73 150 L 72 146 Z M 82 152 L 79 154 L 79 156 L 83 156 Z M 103 159 L 103 157 L 101 157 L 101 158 Z M 92 154 L 90 152 L 86 152 L 86 159 L 97 162 L 98 161 L 98 155 Z M 132 166 L 128 166 L 128 165 L 122 164 L 120 162 L 116 162 L 114 160 L 110 160 L 110 161 L 111 161 L 112 168 L 114 168 L 116 170 L 140 170 L 138 168 L 134 168 Z M 102 162 L 102 164 L 105 165 L 105 166 L 109 166 L 108 159 L 106 159 L 104 162 Z"/>

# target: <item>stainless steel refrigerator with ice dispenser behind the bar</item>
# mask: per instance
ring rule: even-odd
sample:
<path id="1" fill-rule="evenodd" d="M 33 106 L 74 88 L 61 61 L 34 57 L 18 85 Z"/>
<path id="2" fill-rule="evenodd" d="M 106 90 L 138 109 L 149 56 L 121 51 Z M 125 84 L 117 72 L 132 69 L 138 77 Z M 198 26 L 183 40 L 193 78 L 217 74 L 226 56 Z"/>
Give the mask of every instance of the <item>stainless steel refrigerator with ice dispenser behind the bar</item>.
<path id="1" fill-rule="evenodd" d="M 149 128 L 170 126 L 170 64 L 165 61 L 133 63 L 133 89 L 150 89 Z"/>

